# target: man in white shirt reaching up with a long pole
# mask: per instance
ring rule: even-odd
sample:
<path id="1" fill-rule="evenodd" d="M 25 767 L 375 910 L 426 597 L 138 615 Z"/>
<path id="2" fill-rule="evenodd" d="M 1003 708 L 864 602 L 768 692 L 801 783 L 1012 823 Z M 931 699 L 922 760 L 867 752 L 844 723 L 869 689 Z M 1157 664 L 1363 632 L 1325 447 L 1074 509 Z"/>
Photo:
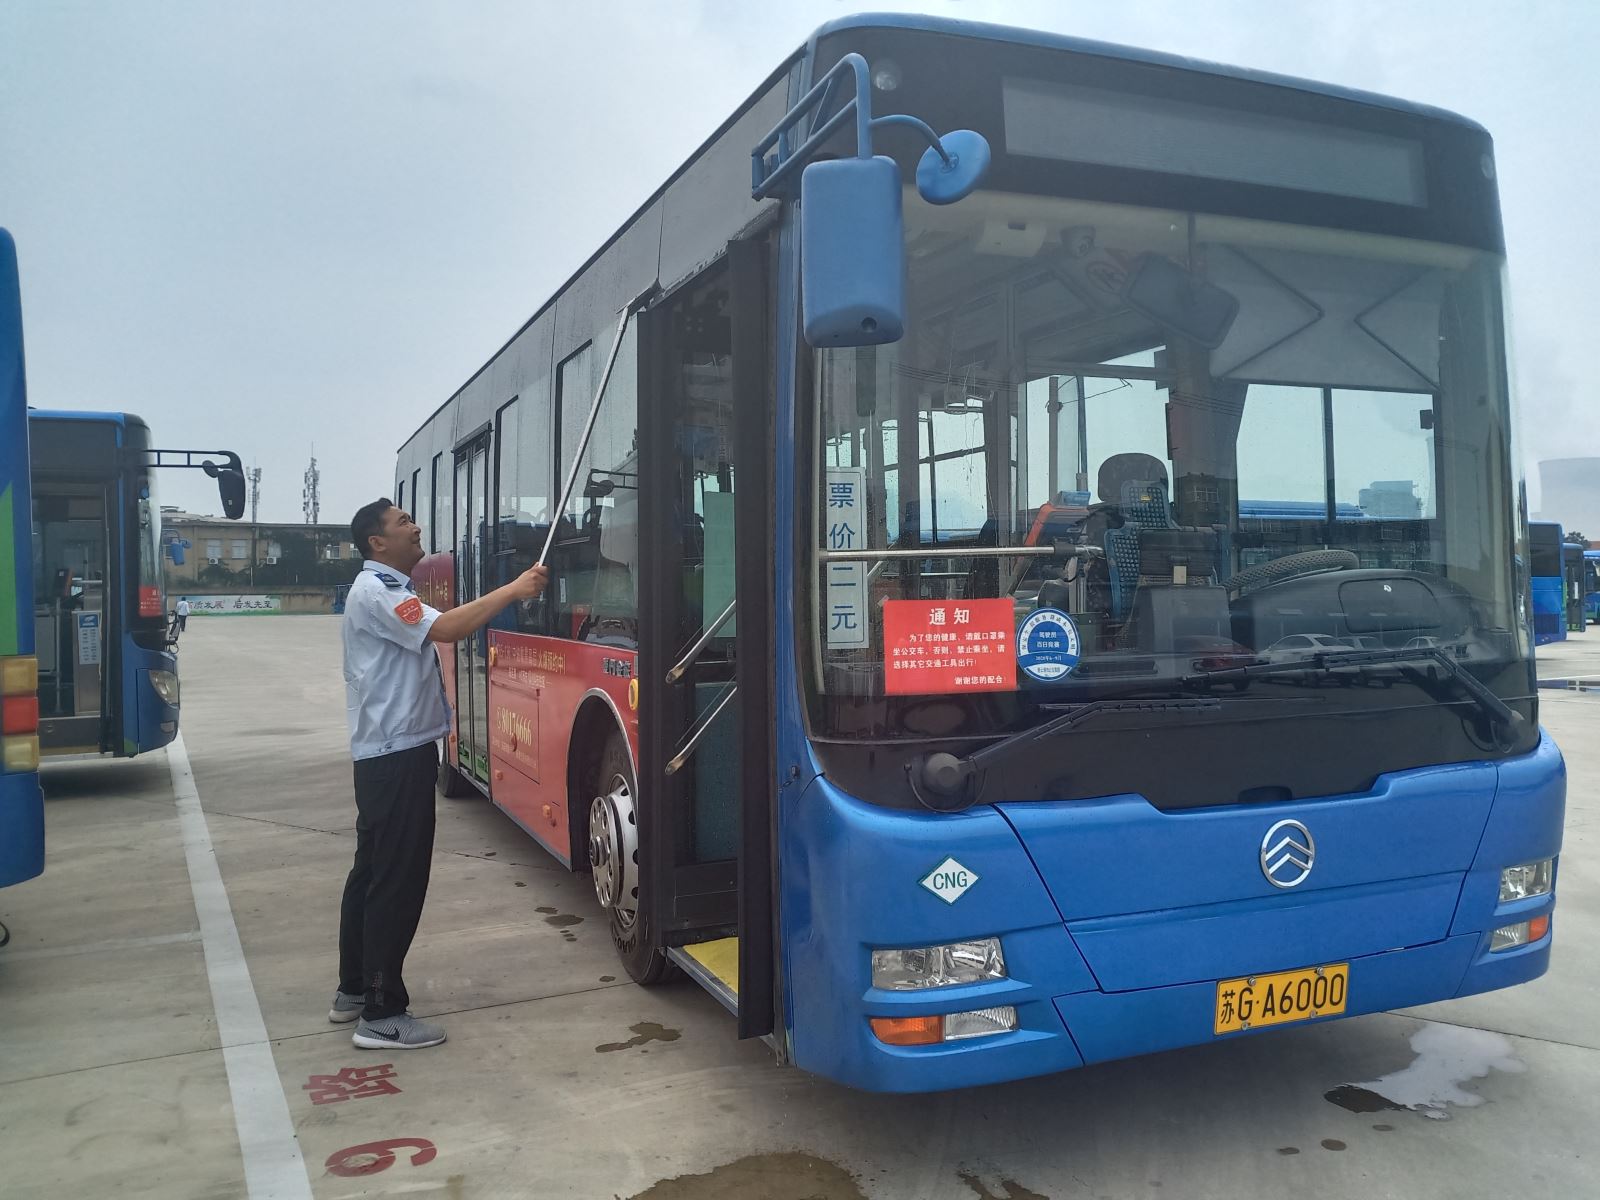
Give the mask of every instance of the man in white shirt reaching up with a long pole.
<path id="1" fill-rule="evenodd" d="M 459 642 L 549 581 L 544 566 L 470 603 L 432 608 L 411 587 L 422 531 L 389 499 L 363 506 L 350 534 L 365 550 L 344 602 L 344 688 L 355 760 L 355 864 L 339 912 L 339 990 L 330 1021 L 355 1021 L 370 1050 L 437 1046 L 445 1030 L 411 1016 L 400 978 L 422 917 L 434 854 L 434 782 L 450 702 L 435 643 Z"/>

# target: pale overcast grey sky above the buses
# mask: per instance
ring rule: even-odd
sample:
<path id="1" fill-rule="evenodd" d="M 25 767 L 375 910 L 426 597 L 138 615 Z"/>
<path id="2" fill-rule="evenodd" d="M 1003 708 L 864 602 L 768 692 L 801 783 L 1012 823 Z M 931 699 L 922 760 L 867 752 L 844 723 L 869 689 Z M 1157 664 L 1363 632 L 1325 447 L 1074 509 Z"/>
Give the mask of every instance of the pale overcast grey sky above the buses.
<path id="1" fill-rule="evenodd" d="M 262 520 L 394 451 L 818 24 L 762 3 L 0 0 L 29 398 L 238 450 Z M 1600 454 L 1600 5 L 922 0 L 1454 109 L 1496 139 L 1522 445 Z M 216 510 L 210 480 L 163 501 Z M 1536 482 L 1533 482 L 1536 486 Z"/>

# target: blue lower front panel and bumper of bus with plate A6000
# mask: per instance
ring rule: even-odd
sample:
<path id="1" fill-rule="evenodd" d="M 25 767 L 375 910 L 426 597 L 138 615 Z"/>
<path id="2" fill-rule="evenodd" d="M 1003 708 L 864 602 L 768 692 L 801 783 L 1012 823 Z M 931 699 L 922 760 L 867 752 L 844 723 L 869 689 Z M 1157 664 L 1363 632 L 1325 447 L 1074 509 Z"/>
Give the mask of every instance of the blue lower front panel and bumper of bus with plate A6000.
<path id="1" fill-rule="evenodd" d="M 1096 819 L 1118 826 L 1128 819 L 1115 810 L 1125 800 L 1027 808 L 1040 827 L 1051 819 L 1086 822 L 1070 838 L 1077 843 L 1091 840 Z M 1373 824 L 1363 803 L 1390 818 L 1371 843 L 1362 832 Z M 1098 818 L 1094 805 L 1101 805 Z M 1230 893 L 1224 885 L 1232 867 L 1219 862 L 1211 878 L 1173 886 L 1216 886 L 1214 894 L 1232 899 L 1179 904 L 1152 882 L 1142 910 L 1123 896 L 1112 898 L 1109 915 L 1085 915 L 1082 907 L 1074 912 L 1074 902 L 1106 899 L 1094 898 L 1091 886 L 1090 901 L 1082 891 L 1069 896 L 1062 878 L 1083 880 L 1083 870 L 1062 874 L 1059 864 L 1053 870 L 1043 840 L 1003 811 L 1013 808 L 891 811 L 843 795 L 826 779 L 786 808 L 786 834 L 794 835 L 781 840 L 784 974 L 797 1066 L 872 1091 L 974 1086 L 1286 1029 L 1270 1024 L 1218 1034 L 1221 986 L 1237 976 L 1347 966 L 1342 1011 L 1298 1021 L 1309 1022 L 1509 987 L 1549 966 L 1554 888 L 1530 899 L 1499 898 L 1504 867 L 1554 859 L 1560 850 L 1565 771 L 1549 741 L 1518 760 L 1426 768 L 1395 776 L 1363 797 L 1310 802 L 1315 826 L 1328 832 L 1326 853 L 1336 854 L 1342 838 L 1352 851 L 1349 869 L 1371 877 L 1352 875 L 1306 893 Z M 1046 810 L 1056 814 L 1046 816 Z M 1274 814 L 1278 811 L 1290 813 L 1288 806 L 1275 806 Z M 1339 830 L 1341 811 L 1349 832 Z M 1402 813 L 1410 824 L 1400 821 Z M 1437 826 L 1430 824 L 1435 818 Z M 1150 819 L 1190 822 L 1195 816 Z M 1232 837 L 1230 822 L 1259 819 L 1261 813 L 1246 806 L 1200 818 L 1214 822 L 1216 837 L 1224 840 Z M 1462 821 L 1470 829 L 1459 843 L 1442 845 L 1426 875 L 1397 877 L 1392 864 L 1373 861 L 1384 838 L 1416 854 L 1419 832 Z M 1410 832 L 1397 837 L 1397 830 Z M 1126 832 L 1134 835 L 1131 845 L 1149 840 L 1149 830 Z M 1192 826 L 1184 835 L 1210 837 Z M 1256 830 L 1254 842 L 1259 837 Z M 955 899 L 930 886 L 942 878 L 938 869 L 947 858 L 970 880 Z M 1190 862 L 1216 858 L 1198 854 Z M 1253 846 L 1248 858 L 1259 875 Z M 1331 875 L 1336 867 L 1334 858 L 1325 870 Z M 1179 864 L 1168 874 L 1181 875 Z M 1541 917 L 1549 923 L 1531 942 L 1490 949 L 1496 928 Z M 874 986 L 874 949 L 976 938 L 1000 939 L 1005 978 L 922 990 Z M 872 1024 L 874 1018 L 992 1008 L 1014 1010 L 1014 1029 L 933 1045 L 888 1045 Z"/>

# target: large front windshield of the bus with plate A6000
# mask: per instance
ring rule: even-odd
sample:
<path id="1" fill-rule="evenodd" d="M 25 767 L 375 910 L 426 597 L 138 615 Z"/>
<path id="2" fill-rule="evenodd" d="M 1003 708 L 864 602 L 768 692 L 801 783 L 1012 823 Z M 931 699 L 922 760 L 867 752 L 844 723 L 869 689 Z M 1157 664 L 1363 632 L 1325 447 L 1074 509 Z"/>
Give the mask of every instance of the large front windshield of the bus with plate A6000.
<path id="1" fill-rule="evenodd" d="M 821 734 L 1406 646 L 1526 694 L 1498 254 L 1008 194 L 906 238 L 904 339 L 814 357 Z"/>

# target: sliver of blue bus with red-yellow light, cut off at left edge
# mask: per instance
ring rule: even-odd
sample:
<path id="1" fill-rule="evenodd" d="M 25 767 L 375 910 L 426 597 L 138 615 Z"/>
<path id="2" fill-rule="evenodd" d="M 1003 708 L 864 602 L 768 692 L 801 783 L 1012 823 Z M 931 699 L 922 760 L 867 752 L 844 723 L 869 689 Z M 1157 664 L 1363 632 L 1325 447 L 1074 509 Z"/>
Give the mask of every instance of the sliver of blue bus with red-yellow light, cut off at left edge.
<path id="1" fill-rule="evenodd" d="M 0 229 L 0 888 L 45 869 L 29 496 L 22 298 L 16 245 Z"/>

